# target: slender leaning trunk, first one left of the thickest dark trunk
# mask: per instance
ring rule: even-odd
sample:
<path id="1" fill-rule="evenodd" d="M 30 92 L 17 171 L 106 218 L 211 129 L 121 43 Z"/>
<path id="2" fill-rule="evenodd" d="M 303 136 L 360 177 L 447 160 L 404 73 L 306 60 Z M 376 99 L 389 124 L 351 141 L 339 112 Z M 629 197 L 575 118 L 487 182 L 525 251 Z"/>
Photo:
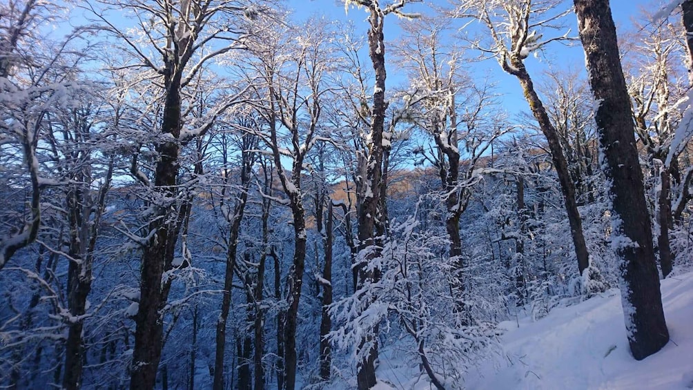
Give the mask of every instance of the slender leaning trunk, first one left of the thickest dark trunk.
<path id="1" fill-rule="evenodd" d="M 505 67 L 505 70 L 520 80 L 525 91 L 525 98 L 529 103 L 529 108 L 532 109 L 532 114 L 541 128 L 546 140 L 549 143 L 551 159 L 556 168 L 556 174 L 559 177 L 561 184 L 561 193 L 563 193 L 563 202 L 565 211 L 568 213 L 568 224 L 570 224 L 570 234 L 572 243 L 575 248 L 575 256 L 577 257 L 577 268 L 580 274 L 584 272 L 590 265 L 589 253 L 585 242 L 585 236 L 582 232 L 582 220 L 580 212 L 577 209 L 577 201 L 575 200 L 575 185 L 570 177 L 568 170 L 568 162 L 565 161 L 563 148 L 556 127 L 551 123 L 551 120 L 546 112 L 546 109 L 541 102 L 541 99 L 534 90 L 534 83 L 529 77 L 525 64 L 519 58 L 513 57 L 510 60 L 511 67 Z"/>

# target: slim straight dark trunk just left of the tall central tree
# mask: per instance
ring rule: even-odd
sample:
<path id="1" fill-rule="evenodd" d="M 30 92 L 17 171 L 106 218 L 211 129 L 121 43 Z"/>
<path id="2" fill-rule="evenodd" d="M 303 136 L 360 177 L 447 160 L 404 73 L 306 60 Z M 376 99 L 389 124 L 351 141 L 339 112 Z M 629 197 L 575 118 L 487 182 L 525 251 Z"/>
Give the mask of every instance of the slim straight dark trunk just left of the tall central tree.
<path id="1" fill-rule="evenodd" d="M 328 333 L 332 330 L 332 319 L 330 317 L 329 306 L 332 304 L 332 202 L 327 206 L 327 220 L 325 221 L 325 265 L 322 270 L 322 319 L 320 320 L 320 378 L 329 380 L 332 370 L 332 351 L 330 342 L 327 339 Z"/>

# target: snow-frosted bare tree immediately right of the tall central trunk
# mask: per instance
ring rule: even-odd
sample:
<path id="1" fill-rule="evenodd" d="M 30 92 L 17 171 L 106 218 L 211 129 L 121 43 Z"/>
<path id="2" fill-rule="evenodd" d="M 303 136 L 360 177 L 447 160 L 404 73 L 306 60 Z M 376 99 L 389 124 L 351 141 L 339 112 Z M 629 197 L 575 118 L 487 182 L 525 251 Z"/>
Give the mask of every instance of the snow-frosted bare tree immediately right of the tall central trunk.
<path id="1" fill-rule="evenodd" d="M 464 317 L 465 264 L 459 220 L 471 199 L 480 159 L 507 127 L 500 125 L 504 115 L 493 112 L 497 102 L 491 85 L 475 85 L 469 80 L 458 67 L 462 52 L 443 44 L 447 27 L 423 18 L 403 24 L 405 37 L 394 46 L 394 55 L 410 73 L 411 96 L 405 96 L 407 105 L 402 111 L 435 142 L 433 150 L 421 146 L 414 154 L 428 160 L 441 181 L 449 256 L 457 268 L 451 278 L 459 302 L 456 310 Z"/>

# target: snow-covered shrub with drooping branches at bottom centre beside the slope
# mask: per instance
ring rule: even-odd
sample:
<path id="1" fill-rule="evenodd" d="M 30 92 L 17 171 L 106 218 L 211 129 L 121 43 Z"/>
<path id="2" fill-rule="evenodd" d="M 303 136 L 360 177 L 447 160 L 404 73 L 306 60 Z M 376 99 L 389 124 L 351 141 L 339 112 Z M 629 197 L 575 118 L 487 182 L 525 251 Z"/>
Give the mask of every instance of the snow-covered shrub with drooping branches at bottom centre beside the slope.
<path id="1" fill-rule="evenodd" d="M 445 236 L 420 230 L 415 216 L 392 226 L 378 256 L 366 264 L 380 278 L 365 281 L 356 294 L 332 306 L 341 326 L 330 337 L 338 347 L 352 349 L 358 362 L 369 349 L 355 348 L 362 340 L 378 329 L 398 333 L 411 342 L 412 364 L 433 384 L 457 388 L 477 353 L 494 344 L 494 326 L 470 321 L 466 309 L 456 309 L 460 303 L 471 308 L 473 301 L 451 293 L 459 272 L 441 250 L 448 246 Z"/>

